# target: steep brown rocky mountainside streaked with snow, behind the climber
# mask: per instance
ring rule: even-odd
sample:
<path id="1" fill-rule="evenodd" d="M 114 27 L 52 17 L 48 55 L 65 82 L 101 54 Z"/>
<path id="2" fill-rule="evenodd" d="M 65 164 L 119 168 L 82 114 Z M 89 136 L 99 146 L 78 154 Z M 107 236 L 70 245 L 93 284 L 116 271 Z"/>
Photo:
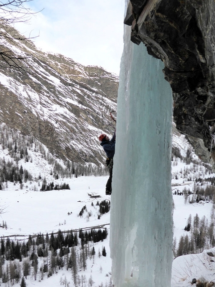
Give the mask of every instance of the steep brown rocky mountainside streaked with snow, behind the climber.
<path id="1" fill-rule="evenodd" d="M 43 53 L 9 26 L 0 26 L 2 35 L 0 50 L 21 59 L 19 69 L 0 61 L 0 122 L 33 135 L 63 160 L 103 162 L 97 136 L 112 132 L 109 112 L 116 109 L 118 77 Z"/>

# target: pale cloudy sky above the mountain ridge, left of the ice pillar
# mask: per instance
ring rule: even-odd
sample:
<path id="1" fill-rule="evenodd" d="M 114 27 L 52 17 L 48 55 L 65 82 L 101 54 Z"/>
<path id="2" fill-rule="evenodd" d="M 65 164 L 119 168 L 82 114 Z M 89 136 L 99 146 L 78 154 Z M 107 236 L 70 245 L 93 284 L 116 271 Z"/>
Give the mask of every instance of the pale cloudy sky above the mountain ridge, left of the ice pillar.
<path id="1" fill-rule="evenodd" d="M 43 52 L 119 74 L 123 49 L 124 0 L 32 0 L 28 24 L 15 28 Z M 25 5 L 26 7 L 26 5 Z M 39 12 L 40 11 L 40 12 Z"/>

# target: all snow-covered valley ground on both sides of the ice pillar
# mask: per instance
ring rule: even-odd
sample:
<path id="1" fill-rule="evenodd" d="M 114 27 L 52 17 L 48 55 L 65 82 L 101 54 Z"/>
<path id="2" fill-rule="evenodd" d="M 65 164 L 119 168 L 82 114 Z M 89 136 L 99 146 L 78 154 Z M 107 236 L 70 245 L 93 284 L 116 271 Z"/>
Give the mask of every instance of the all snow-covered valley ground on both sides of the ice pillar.
<path id="1" fill-rule="evenodd" d="M 181 140 L 181 148 L 184 146 Z M 184 155 L 183 155 L 184 156 Z M 0 150 L 0 158 L 4 157 L 5 160 L 10 159 L 6 151 Z M 97 219 L 98 208 L 95 206 L 97 200 L 110 200 L 110 196 L 105 196 L 104 187 L 107 177 L 78 177 L 71 179 L 58 179 L 53 180 L 50 176 L 51 166 L 42 158 L 39 153 L 31 153 L 32 163 L 21 163 L 23 168 L 29 170 L 33 177 L 37 177 L 39 173 L 42 177 L 45 176 L 47 183 L 53 181 L 56 183 L 69 184 L 70 190 L 59 191 L 46 191 L 40 192 L 41 181 L 38 184 L 35 182 L 27 182 L 24 184 L 23 189 L 20 189 L 19 184 L 13 185 L 8 183 L 4 189 L 0 191 L 0 205 L 4 208 L 4 213 L 1 214 L 0 224 L 3 221 L 6 223 L 7 229 L 0 228 L 0 236 L 12 236 L 11 239 L 23 240 L 29 234 L 42 234 L 57 232 L 60 230 L 70 230 L 79 228 L 91 228 L 94 226 L 106 227 L 109 232 L 109 213 Z M 193 155 L 193 157 L 195 157 Z M 191 164 L 192 165 L 192 164 Z M 187 181 L 180 171 L 191 167 L 185 165 L 178 159 L 177 164 L 172 165 L 172 175 L 177 174 L 178 179 L 172 179 L 172 193 L 174 201 L 174 237 L 177 242 L 182 234 L 186 234 L 184 227 L 187 222 L 189 214 L 195 216 L 198 214 L 199 218 L 205 215 L 209 218 L 212 204 L 201 202 L 198 204 L 184 204 L 184 197 L 174 195 L 174 191 L 182 191 L 184 187 L 192 190 L 193 182 Z M 205 176 L 204 170 L 196 169 L 198 176 Z M 209 177 L 209 175 L 206 175 Z M 210 176 L 214 176 L 210 175 Z M 37 191 L 33 191 L 37 190 Z M 88 193 L 95 192 L 101 196 L 99 199 L 91 199 Z M 93 203 L 93 205 L 92 205 Z M 77 216 L 81 208 L 86 205 L 87 211 L 84 212 L 82 217 Z M 88 213 L 91 216 L 88 216 Z M 68 215 L 68 213 L 71 213 Z M 15 236 L 14 236 L 15 235 Z M 96 255 L 93 260 L 88 260 L 87 269 L 79 271 L 80 278 L 85 276 L 85 285 L 88 285 L 88 278 L 92 278 L 93 286 L 103 284 L 107 286 L 111 282 L 111 260 L 109 256 L 109 235 L 103 242 L 93 243 Z M 107 256 L 98 256 L 103 246 L 106 249 Z M 215 253 L 215 248 L 210 250 Z M 207 255 L 208 251 L 204 251 L 196 255 L 180 256 L 173 260 L 172 265 L 172 280 L 171 287 L 186 287 L 190 286 L 193 278 L 205 278 L 207 281 L 215 279 L 215 265 L 211 261 L 211 256 Z M 215 261 L 215 260 L 214 260 Z M 64 280 L 64 282 L 63 282 Z M 203 279 L 202 279 L 203 280 Z M 51 277 L 44 278 L 43 280 L 34 280 L 28 276 L 26 283 L 27 286 L 50 286 L 56 287 L 60 285 L 73 286 L 71 278 L 71 271 L 59 270 Z M 81 285 L 82 283 L 80 283 Z M 19 285 L 19 284 L 15 284 Z"/>

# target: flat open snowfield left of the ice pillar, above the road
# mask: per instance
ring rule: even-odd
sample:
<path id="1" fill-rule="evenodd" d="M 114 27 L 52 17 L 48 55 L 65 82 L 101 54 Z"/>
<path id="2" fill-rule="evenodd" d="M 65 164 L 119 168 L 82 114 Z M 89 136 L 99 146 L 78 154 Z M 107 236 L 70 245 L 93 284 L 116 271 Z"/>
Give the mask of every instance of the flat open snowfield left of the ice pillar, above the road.
<path id="1" fill-rule="evenodd" d="M 11 234 L 26 235 L 51 233 L 94 225 L 109 224 L 109 214 L 97 219 L 95 211 L 97 199 L 91 199 L 88 193 L 96 192 L 100 200 L 109 199 L 104 194 L 106 177 L 78 177 L 55 180 L 55 183 L 68 183 L 70 190 L 31 191 L 19 189 L 19 185 L 8 184 L 8 188 L 0 191 L 0 202 L 5 207 L 1 220 L 6 222 L 7 229 L 0 229 L 0 236 Z M 32 184 L 34 185 L 34 184 Z M 26 185 L 25 185 L 26 186 Z M 91 206 L 93 202 L 94 206 Z M 77 217 L 81 208 L 86 205 L 87 212 L 92 216 Z M 68 212 L 71 213 L 68 215 Z M 1 222 L 2 223 L 2 222 Z"/>

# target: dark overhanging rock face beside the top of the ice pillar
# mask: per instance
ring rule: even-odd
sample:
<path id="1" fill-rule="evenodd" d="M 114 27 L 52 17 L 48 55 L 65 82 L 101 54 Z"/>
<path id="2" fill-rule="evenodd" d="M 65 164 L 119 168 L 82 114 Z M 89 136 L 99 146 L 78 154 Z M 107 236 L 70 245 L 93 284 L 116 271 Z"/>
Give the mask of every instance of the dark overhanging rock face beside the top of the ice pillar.
<path id="1" fill-rule="evenodd" d="M 131 41 L 163 61 L 173 92 L 176 128 L 203 142 L 205 159 L 215 161 L 214 0 L 130 0 L 124 24 Z M 199 144 L 194 144 L 198 153 Z M 201 152 L 200 152 L 201 150 Z M 202 147 L 199 155 L 202 153 Z M 202 159 L 203 160 L 203 159 Z"/>

